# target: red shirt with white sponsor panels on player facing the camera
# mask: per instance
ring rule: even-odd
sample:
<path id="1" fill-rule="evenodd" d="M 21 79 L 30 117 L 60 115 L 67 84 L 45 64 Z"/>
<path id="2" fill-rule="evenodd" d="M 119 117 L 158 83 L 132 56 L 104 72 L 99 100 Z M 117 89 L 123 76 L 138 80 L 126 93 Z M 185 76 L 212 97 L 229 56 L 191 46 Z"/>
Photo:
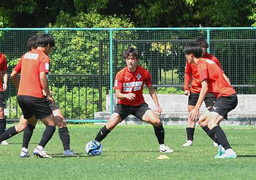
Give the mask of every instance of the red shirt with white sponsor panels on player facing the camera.
<path id="1" fill-rule="evenodd" d="M 125 67 L 116 74 L 114 89 L 120 89 L 122 94 L 133 93 L 136 97 L 133 100 L 119 99 L 117 103 L 129 106 L 137 106 L 145 102 L 143 97 L 143 85 L 151 86 L 151 76 L 143 67 L 137 65 L 136 70 L 132 73 L 128 67 Z"/>

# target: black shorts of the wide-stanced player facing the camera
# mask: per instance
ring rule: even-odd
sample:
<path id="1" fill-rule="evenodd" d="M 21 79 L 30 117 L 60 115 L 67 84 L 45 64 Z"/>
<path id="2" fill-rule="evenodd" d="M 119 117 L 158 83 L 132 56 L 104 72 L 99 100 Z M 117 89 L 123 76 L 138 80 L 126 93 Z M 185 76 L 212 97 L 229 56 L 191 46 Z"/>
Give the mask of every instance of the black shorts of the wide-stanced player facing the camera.
<path id="1" fill-rule="evenodd" d="M 132 114 L 135 117 L 138 117 L 142 121 L 142 117 L 148 109 L 150 109 L 150 108 L 148 107 L 147 103 L 143 103 L 138 106 L 116 104 L 114 112 L 119 114 L 122 121 L 130 114 Z"/>

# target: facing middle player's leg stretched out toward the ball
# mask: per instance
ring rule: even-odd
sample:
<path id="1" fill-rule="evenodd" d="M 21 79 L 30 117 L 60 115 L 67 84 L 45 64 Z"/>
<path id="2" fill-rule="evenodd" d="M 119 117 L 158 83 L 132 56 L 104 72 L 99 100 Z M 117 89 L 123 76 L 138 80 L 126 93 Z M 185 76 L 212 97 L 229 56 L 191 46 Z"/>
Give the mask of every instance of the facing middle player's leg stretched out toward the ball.
<path id="1" fill-rule="evenodd" d="M 129 115 L 130 106 L 117 104 L 113 114 L 111 114 L 108 120 L 108 124 L 100 129 L 94 140 L 101 142 L 107 137 L 108 133 L 116 127 L 117 124 L 121 123 Z"/>

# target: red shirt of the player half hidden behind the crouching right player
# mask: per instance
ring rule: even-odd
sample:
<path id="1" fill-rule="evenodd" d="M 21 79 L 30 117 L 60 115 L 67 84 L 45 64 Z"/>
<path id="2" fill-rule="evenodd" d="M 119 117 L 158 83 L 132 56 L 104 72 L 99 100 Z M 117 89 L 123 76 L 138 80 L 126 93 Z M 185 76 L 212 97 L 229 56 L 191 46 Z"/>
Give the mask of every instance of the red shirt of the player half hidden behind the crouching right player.
<path id="1" fill-rule="evenodd" d="M 213 62 L 215 62 L 221 68 L 219 60 L 216 57 L 214 57 L 213 55 L 206 52 L 206 54 L 202 58 L 212 60 Z M 201 82 L 199 81 L 199 74 L 198 74 L 198 71 L 197 71 L 197 65 L 196 64 L 189 64 L 188 61 L 187 61 L 186 67 L 185 67 L 184 91 L 186 91 L 186 90 L 189 91 L 189 83 L 190 83 L 191 73 L 193 75 L 193 80 L 191 82 L 190 91 L 193 92 L 193 93 L 199 94 L 201 89 L 202 89 L 202 85 L 201 85 Z M 211 91 L 208 90 L 208 93 L 209 92 L 211 92 Z"/>

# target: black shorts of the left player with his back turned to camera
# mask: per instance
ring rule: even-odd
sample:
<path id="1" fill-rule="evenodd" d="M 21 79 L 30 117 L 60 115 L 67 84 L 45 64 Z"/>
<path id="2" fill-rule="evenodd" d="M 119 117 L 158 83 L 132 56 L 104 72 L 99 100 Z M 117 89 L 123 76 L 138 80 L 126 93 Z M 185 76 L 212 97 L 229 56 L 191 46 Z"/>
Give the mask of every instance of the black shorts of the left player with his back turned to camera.
<path id="1" fill-rule="evenodd" d="M 25 119 L 33 115 L 36 119 L 43 119 L 52 114 L 52 109 L 44 98 L 18 95 L 18 103 Z"/>

